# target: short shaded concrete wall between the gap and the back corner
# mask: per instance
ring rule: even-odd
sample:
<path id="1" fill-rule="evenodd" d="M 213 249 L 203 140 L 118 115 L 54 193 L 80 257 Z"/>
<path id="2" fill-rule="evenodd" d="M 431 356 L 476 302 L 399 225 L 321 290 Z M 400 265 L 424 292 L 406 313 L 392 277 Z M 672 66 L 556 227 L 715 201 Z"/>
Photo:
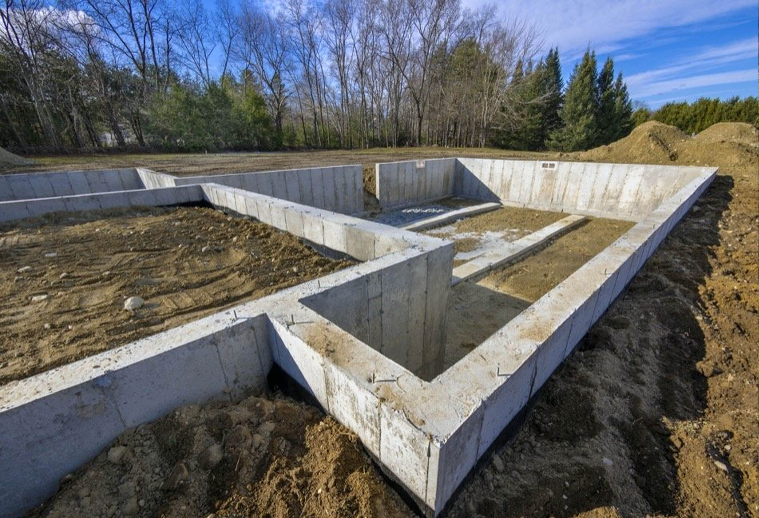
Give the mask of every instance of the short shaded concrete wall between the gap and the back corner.
<path id="1" fill-rule="evenodd" d="M 454 194 L 455 158 L 376 164 L 376 196 L 383 207 Z"/>

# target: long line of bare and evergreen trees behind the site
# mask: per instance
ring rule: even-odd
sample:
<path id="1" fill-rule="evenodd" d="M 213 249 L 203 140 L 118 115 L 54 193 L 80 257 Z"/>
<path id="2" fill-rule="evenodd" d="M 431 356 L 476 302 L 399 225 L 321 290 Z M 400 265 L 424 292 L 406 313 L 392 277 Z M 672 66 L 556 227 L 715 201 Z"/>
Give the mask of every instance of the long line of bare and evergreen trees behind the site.
<path id="1" fill-rule="evenodd" d="M 622 77 L 458 0 L 44 0 L 0 8 L 0 144 L 576 150 L 632 125 Z"/>

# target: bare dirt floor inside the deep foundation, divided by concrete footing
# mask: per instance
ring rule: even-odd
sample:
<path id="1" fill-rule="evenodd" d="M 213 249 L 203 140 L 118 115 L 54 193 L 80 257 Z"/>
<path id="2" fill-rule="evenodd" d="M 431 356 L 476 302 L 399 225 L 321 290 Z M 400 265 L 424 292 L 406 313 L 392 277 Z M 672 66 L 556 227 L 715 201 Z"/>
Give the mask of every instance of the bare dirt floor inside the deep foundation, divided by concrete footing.
<path id="1" fill-rule="evenodd" d="M 453 232 L 433 230 L 428 233 L 453 239 L 457 251 L 477 250 L 477 239 L 483 233 L 514 241 L 565 216 L 543 210 L 503 207 L 461 220 L 452 226 Z M 446 368 L 575 273 L 631 226 L 633 223 L 628 221 L 589 218 L 581 226 L 552 239 L 537 253 L 477 280 L 454 286 L 448 302 Z M 459 238 L 460 235 L 465 237 Z"/>

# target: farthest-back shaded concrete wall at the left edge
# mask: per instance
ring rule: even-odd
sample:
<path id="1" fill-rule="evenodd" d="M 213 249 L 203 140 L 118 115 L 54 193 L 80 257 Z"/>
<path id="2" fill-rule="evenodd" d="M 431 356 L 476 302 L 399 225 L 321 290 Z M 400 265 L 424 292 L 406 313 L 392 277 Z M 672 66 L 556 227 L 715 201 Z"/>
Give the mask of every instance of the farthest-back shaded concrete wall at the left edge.
<path id="1" fill-rule="evenodd" d="M 136 169 L 0 175 L 0 201 L 130 191 L 141 188 L 143 188 L 143 183 Z"/>

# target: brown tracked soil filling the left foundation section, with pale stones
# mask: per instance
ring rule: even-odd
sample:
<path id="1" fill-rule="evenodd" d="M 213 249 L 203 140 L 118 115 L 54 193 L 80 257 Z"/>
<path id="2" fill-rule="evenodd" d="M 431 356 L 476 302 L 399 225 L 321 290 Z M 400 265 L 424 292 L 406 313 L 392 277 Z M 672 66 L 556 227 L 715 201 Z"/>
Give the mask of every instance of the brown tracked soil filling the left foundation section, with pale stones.
<path id="1" fill-rule="evenodd" d="M 0 384 L 349 264 L 263 223 L 200 207 L 63 213 L 2 226 Z M 124 310 L 131 296 L 145 305 Z"/>

